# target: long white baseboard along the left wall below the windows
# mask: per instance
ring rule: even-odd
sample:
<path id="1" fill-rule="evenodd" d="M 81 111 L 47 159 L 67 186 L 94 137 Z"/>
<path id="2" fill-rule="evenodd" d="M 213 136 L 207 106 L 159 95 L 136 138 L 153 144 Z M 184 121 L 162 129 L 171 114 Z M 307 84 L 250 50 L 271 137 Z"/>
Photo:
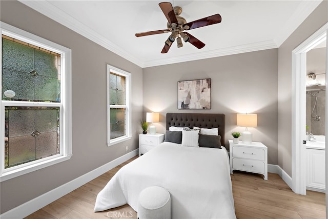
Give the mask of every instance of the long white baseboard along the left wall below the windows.
<path id="1" fill-rule="evenodd" d="M 64 185 L 61 185 L 47 193 L 44 193 L 36 198 L 33 198 L 32 200 L 1 214 L 0 218 L 2 219 L 24 218 L 30 215 L 31 213 L 45 207 L 46 205 L 49 205 L 50 203 L 56 201 L 58 198 L 63 197 L 64 195 L 70 193 L 71 191 L 83 186 L 84 184 L 90 182 L 94 178 L 106 173 L 107 171 L 113 169 L 114 167 L 128 161 L 130 158 L 138 155 L 138 150 L 139 149 L 136 149 L 123 156 L 120 156 L 115 160 L 101 167 L 98 167 L 97 169 L 94 169 L 84 175 L 81 175 Z"/>

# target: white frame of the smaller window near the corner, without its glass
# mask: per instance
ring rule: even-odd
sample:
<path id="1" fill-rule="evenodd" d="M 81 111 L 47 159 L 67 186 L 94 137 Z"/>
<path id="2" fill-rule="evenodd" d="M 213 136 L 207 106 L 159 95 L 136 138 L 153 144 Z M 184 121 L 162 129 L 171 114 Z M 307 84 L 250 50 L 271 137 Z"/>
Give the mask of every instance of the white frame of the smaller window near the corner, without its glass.
<path id="1" fill-rule="evenodd" d="M 111 140 L 111 121 L 110 121 L 110 109 L 121 108 L 122 105 L 111 105 L 110 104 L 110 72 L 124 76 L 126 78 L 126 135 L 117 137 Z M 131 73 L 116 68 L 111 65 L 107 65 L 107 146 L 112 146 L 121 142 L 130 140 L 132 137 L 132 119 L 131 119 Z"/>

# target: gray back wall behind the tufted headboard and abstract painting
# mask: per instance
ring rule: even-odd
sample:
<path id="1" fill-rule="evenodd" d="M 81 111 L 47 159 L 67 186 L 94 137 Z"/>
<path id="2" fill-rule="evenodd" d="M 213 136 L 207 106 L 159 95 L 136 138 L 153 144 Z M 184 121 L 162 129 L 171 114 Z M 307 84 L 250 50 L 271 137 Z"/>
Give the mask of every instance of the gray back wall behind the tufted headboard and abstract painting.
<path id="1" fill-rule="evenodd" d="M 191 45 L 188 45 L 191 46 Z M 167 112 L 226 114 L 226 146 L 237 127 L 236 114 L 257 113 L 253 141 L 268 147 L 269 164 L 278 162 L 278 49 L 229 55 L 144 69 L 144 114 L 160 112 L 157 132 L 165 133 Z M 178 110 L 177 82 L 211 78 L 210 110 Z"/>

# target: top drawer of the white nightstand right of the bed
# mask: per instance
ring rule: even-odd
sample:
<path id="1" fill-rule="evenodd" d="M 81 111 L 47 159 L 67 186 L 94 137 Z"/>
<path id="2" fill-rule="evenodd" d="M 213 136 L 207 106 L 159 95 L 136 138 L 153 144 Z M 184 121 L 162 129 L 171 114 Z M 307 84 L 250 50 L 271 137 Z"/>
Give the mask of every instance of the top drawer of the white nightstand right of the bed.
<path id="1" fill-rule="evenodd" d="M 233 147 L 232 154 L 234 157 L 249 158 L 264 161 L 265 151 L 261 148 L 250 147 Z"/>

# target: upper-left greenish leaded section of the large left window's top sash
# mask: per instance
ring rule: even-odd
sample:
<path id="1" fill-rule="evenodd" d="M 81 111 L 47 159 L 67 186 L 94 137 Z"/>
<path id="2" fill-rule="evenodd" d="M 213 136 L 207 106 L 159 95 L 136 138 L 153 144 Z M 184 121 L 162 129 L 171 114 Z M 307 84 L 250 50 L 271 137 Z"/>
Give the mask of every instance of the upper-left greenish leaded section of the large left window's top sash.
<path id="1" fill-rule="evenodd" d="M 2 39 L 2 67 L 22 72 L 30 72 L 34 66 L 34 49 L 8 39 Z"/>

